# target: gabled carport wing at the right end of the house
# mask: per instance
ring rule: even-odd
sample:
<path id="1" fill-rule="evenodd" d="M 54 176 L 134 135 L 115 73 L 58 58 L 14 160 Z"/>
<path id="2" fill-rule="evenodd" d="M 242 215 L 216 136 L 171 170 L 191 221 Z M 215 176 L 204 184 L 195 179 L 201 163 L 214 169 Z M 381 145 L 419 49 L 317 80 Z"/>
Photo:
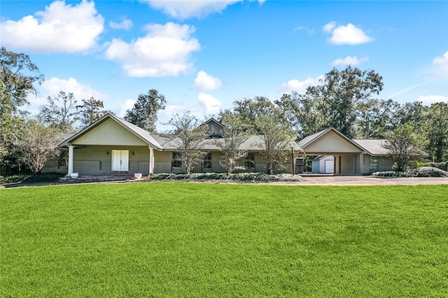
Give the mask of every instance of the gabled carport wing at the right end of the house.
<path id="1" fill-rule="evenodd" d="M 362 175 L 390 171 L 393 159 L 384 148 L 386 140 L 349 139 L 329 127 L 302 139 L 298 144 L 307 155 L 317 156 L 311 162 L 313 173 Z"/>

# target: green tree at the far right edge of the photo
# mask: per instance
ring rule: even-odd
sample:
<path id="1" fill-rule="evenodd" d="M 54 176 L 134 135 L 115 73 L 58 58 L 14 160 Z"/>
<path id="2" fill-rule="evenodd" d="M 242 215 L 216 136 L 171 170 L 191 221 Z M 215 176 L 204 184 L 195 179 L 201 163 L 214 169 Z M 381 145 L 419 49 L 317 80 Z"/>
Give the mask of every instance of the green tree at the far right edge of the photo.
<path id="1" fill-rule="evenodd" d="M 435 162 L 448 160 L 448 104 L 437 102 L 428 108 L 426 120 L 423 123 L 428 144 L 426 150 Z"/>

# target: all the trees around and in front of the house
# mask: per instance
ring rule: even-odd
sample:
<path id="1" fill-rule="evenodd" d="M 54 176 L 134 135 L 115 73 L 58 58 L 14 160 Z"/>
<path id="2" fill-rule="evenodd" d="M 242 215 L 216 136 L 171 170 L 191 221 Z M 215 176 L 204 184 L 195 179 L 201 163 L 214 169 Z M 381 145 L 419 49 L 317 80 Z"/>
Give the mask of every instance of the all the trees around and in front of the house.
<path id="1" fill-rule="evenodd" d="M 36 85 L 43 83 L 44 76 L 28 55 L 6 48 L 1 48 L 0 67 L 0 173 L 20 171 L 24 164 L 38 172 L 45 160 L 36 157 L 37 148 L 48 156 L 56 155 L 62 133 L 78 132 L 105 113 L 112 113 L 94 97 L 78 101 L 73 93 L 61 90 L 47 98 L 48 103 L 39 108 L 38 115 L 29 115 L 22 108 L 29 104 L 30 95 L 37 95 Z M 303 93 L 283 94 L 274 101 L 262 96 L 238 99 L 232 108 L 216 115 L 224 125 L 224 140 L 217 142 L 223 152 L 221 163 L 227 171 L 238 169 L 238 160 L 245 152 L 237 148 L 249 135 L 256 134 L 262 136 L 267 148 L 264 157 L 272 173 L 284 162 L 284 150 L 291 138 L 298 141 L 328 127 L 351 139 L 387 139 L 391 150 L 395 150 L 392 145 L 396 145 L 397 138 L 405 139 L 405 148 L 420 148 L 435 162 L 447 161 L 448 104 L 426 106 L 421 101 L 399 104 L 379 99 L 383 85 L 383 78 L 375 71 L 347 66 L 325 73 L 321 82 Z M 166 103 L 165 96 L 151 89 L 139 95 L 124 118 L 155 132 L 158 112 L 165 109 Z M 189 112 L 174 115 L 167 122 L 174 127 L 174 136 L 184 138 L 197 133 L 200 123 Z M 204 137 L 204 133 L 199 136 Z M 188 143 L 188 139 L 183 141 Z M 200 142 L 196 143 L 199 146 Z M 181 145 L 179 150 L 183 150 L 184 163 L 190 166 L 200 156 L 195 152 L 190 157 L 188 148 L 182 149 Z M 36 165 L 31 165 L 30 160 Z"/>

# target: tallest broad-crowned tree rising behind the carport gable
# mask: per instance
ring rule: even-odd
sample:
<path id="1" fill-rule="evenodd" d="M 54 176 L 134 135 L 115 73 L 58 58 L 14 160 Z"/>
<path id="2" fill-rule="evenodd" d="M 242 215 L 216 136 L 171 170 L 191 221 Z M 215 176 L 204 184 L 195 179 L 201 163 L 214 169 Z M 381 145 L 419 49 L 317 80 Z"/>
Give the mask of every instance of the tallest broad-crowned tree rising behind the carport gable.
<path id="1" fill-rule="evenodd" d="M 334 127 L 353 138 L 358 105 L 382 89 L 383 82 L 378 73 L 347 66 L 342 71 L 334 68 L 325 73 L 321 85 L 308 87 L 307 94 L 315 100 L 322 100 L 321 113 L 326 119 L 326 127 Z"/>

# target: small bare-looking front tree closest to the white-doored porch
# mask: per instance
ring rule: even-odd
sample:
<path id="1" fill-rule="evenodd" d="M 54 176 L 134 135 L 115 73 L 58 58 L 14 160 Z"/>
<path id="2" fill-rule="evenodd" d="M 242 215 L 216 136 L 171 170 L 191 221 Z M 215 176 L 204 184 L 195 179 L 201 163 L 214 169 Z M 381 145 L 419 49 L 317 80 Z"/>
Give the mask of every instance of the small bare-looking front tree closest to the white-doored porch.
<path id="1" fill-rule="evenodd" d="M 201 151 L 201 144 L 208 136 L 207 126 L 201 125 L 200 120 L 190 112 L 174 115 L 168 124 L 174 126 L 172 141 L 179 150 L 186 173 L 190 174 L 193 164 L 200 162 L 204 155 L 204 152 Z"/>

